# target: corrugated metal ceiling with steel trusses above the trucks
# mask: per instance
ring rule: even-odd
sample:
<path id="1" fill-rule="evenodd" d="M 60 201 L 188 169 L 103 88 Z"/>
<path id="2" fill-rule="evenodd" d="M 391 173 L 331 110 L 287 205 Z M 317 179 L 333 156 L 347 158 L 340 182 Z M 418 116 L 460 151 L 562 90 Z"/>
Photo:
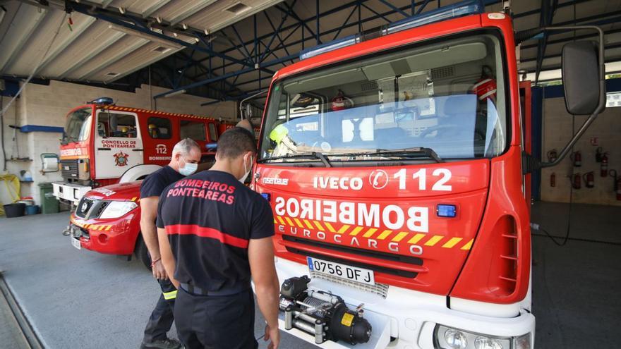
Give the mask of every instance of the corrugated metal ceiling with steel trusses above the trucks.
<path id="1" fill-rule="evenodd" d="M 69 29 L 63 22 L 65 13 L 61 8 L 42 8 L 27 4 L 32 0 L 8 1 L 4 4 L 6 13 L 0 21 L 0 74 L 25 76 L 41 63 L 35 76 L 40 78 L 68 79 L 90 82 L 112 82 L 138 71 L 156 61 L 160 67 L 181 73 L 181 85 L 203 80 L 208 73 L 209 54 L 192 49 L 183 49 L 181 45 L 164 39 L 136 34 L 130 30 L 120 29 L 104 20 L 96 20 L 76 11 L 72 14 L 73 27 Z M 442 6 L 454 4 L 458 0 L 442 0 Z M 62 4 L 60 0 L 50 0 Z M 349 1 L 348 1 L 349 2 Z M 426 2 L 426 1 L 425 1 Z M 440 1 L 430 1 L 425 10 L 438 7 Z M 80 1 L 84 4 L 85 1 Z M 248 60 L 256 59 L 253 39 L 259 37 L 259 56 L 267 51 L 259 61 L 270 61 L 296 54 L 303 48 L 312 47 L 316 39 L 310 32 L 318 28 L 322 33 L 322 42 L 329 42 L 337 37 L 358 32 L 358 16 L 363 20 L 360 27 L 368 30 L 404 18 L 402 13 L 382 1 L 361 0 L 359 9 L 353 7 L 334 11 L 321 16 L 318 23 L 313 18 L 317 11 L 314 0 L 97 0 L 92 3 L 111 11 L 120 13 L 119 8 L 127 13 L 139 14 L 142 18 L 160 18 L 173 25 L 185 23 L 193 28 L 215 33 L 211 39 L 214 51 L 226 54 L 234 59 L 223 60 L 221 56 L 212 55 L 213 72 L 227 75 L 248 69 Z M 416 1 L 420 6 L 423 1 Z M 344 6 L 345 1 L 319 1 L 320 13 Z M 411 0 L 390 0 L 392 6 L 402 8 L 404 13 L 411 13 Z M 541 0 L 514 0 L 512 12 L 516 30 L 538 27 L 541 16 Z M 277 6 L 275 6 L 277 5 Z M 500 4 L 487 6 L 486 11 L 499 11 Z M 290 14 L 287 14 L 291 12 Z M 259 13 L 259 16 L 251 16 Z M 292 16 L 294 14 L 294 16 Z M 268 20 L 269 18 L 269 20 Z M 371 19 L 370 19 L 371 18 Z M 593 23 L 608 20 L 601 25 L 606 35 L 607 60 L 621 60 L 621 24 L 614 18 L 621 18 L 621 1 L 619 0 L 559 0 L 553 24 Z M 581 18 L 589 20 L 581 21 Z M 282 28 L 277 30 L 284 19 Z M 256 21 L 256 22 L 255 22 Z M 303 21 L 304 25 L 299 25 Z M 231 27 L 231 23 L 236 23 Z M 255 23 L 257 29 L 255 32 Z M 59 30 L 56 35 L 56 30 Z M 273 36 L 278 32 L 277 36 Z M 168 33 L 170 34 L 170 33 Z M 50 40 L 56 39 L 50 46 Z M 560 64 L 560 51 L 564 42 L 561 39 L 572 37 L 573 33 L 550 36 L 545 50 L 543 68 Z M 270 40 L 271 38 L 271 40 Z M 191 41 L 190 37 L 179 39 Z M 239 47 L 239 44 L 241 45 Z M 49 47 L 45 57 L 44 52 Z M 253 52 L 254 51 L 254 52 Z M 533 71 L 536 67 L 537 42 L 526 42 L 521 49 L 521 68 Z M 253 54 L 250 54 L 253 52 Z M 249 59 L 249 56 L 251 59 Z M 168 57 L 168 58 L 167 58 Z M 187 59 L 191 58 L 191 68 L 186 71 Z M 215 59 L 214 59 L 215 58 Z M 197 63 L 200 62 L 200 63 Z M 264 88 L 271 71 L 276 71 L 291 61 L 277 63 L 269 68 L 249 71 L 241 76 L 234 76 L 219 85 L 210 85 L 212 89 L 225 92 L 241 93 Z M 160 75 L 169 74 L 159 69 Z M 212 75 L 213 76 L 213 75 Z M 160 79 L 161 80 L 161 79 Z M 169 78 L 169 80 L 172 80 Z M 234 86 L 234 87 L 233 87 Z M 165 86 L 171 87 L 171 86 Z M 232 88 L 232 90 L 231 90 Z"/>

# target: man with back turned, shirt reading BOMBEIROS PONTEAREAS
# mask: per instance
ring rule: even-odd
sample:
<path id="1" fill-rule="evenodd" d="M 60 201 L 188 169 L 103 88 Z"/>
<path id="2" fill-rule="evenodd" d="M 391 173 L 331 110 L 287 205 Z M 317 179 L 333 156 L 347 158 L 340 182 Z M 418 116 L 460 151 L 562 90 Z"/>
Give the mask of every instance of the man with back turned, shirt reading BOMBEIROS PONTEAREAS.
<path id="1" fill-rule="evenodd" d="M 252 349 L 257 301 L 268 348 L 277 348 L 279 282 L 272 209 L 243 185 L 256 145 L 235 127 L 218 140 L 216 163 L 169 185 L 159 198 L 162 261 L 177 286 L 175 321 L 186 348 Z"/>

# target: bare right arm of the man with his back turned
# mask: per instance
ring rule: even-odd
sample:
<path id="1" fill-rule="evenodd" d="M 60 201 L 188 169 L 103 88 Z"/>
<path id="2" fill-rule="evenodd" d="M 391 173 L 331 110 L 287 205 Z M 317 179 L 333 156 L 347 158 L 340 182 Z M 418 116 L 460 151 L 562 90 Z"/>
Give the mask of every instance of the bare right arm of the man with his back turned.
<path id="1" fill-rule="evenodd" d="M 248 262 L 257 301 L 263 317 L 267 321 L 265 341 L 271 339 L 268 348 L 278 348 L 280 334 L 278 332 L 279 283 L 274 265 L 274 246 L 272 237 L 251 239 L 248 244 Z"/>

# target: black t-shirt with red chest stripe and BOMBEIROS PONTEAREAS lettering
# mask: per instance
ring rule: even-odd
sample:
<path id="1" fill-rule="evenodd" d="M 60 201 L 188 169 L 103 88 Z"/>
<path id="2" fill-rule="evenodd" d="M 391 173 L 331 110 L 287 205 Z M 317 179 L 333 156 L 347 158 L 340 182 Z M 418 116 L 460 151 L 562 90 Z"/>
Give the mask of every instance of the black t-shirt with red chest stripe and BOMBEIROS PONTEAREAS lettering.
<path id="1" fill-rule="evenodd" d="M 157 227 L 176 259 L 174 277 L 208 291 L 250 288 L 250 239 L 274 235 L 270 204 L 230 173 L 202 171 L 159 197 Z"/>

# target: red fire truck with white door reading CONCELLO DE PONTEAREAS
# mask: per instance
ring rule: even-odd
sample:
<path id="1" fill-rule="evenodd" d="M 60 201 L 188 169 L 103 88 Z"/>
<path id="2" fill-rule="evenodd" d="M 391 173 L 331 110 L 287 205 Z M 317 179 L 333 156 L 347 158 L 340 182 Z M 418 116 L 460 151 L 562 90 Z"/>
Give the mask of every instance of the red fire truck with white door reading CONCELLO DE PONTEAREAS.
<path id="1" fill-rule="evenodd" d="M 77 204 L 92 188 L 145 178 L 168 164 L 172 148 L 190 137 L 205 157 L 205 145 L 217 141 L 213 118 L 136 109 L 100 98 L 69 112 L 61 142 L 63 182 L 53 183 L 54 196 Z"/>

